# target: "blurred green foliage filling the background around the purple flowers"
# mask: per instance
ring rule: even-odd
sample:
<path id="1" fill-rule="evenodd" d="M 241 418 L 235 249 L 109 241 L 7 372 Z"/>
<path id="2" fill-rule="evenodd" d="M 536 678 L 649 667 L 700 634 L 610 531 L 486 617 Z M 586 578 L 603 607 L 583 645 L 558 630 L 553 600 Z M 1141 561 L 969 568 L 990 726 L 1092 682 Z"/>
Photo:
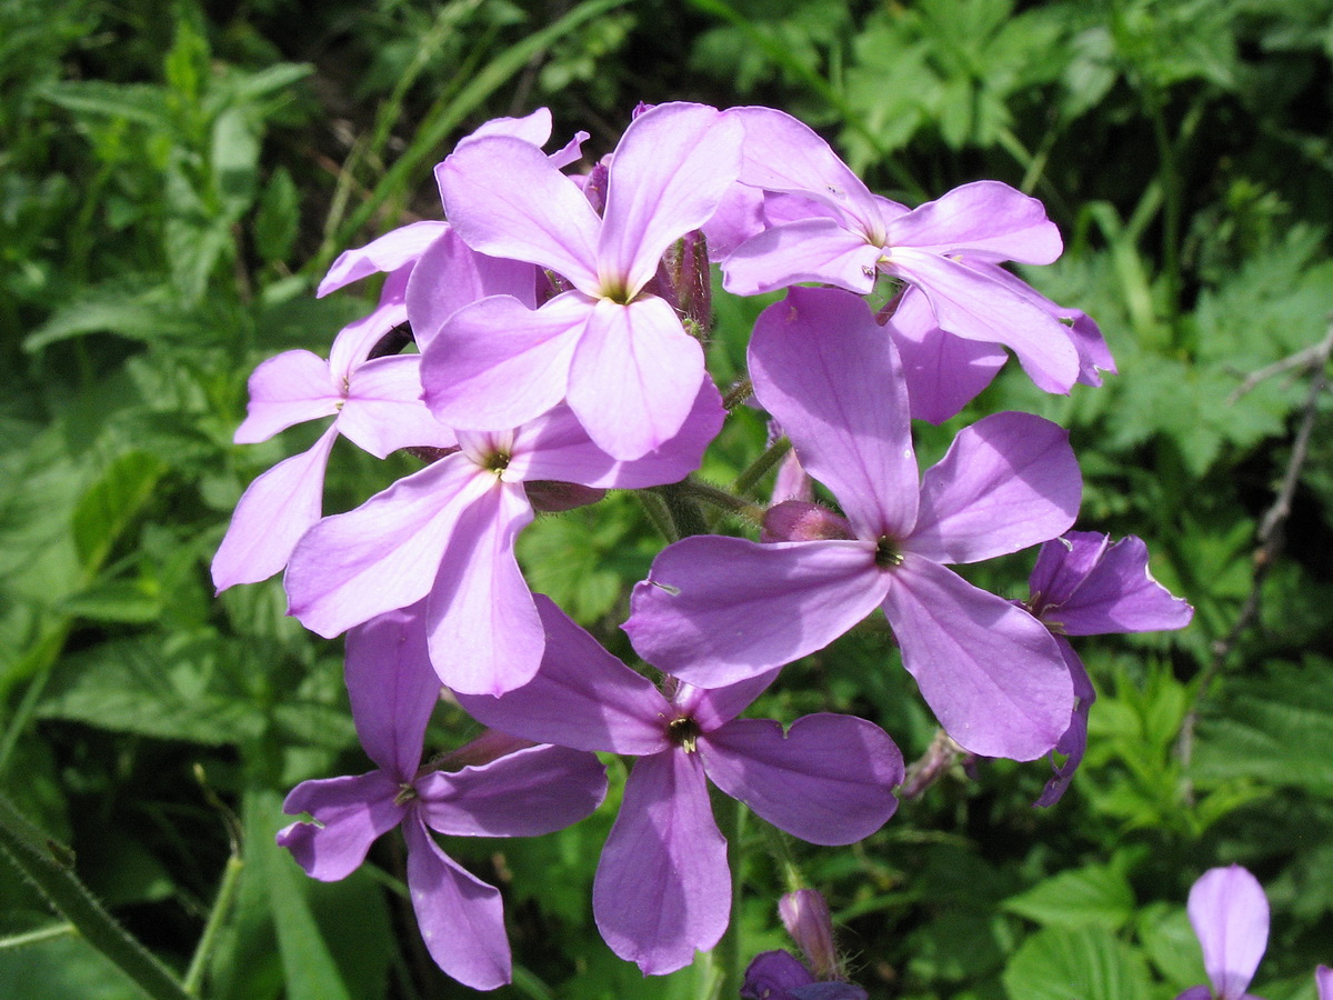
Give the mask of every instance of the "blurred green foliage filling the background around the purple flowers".
<path id="1" fill-rule="evenodd" d="M 549 105 L 600 155 L 640 100 L 762 103 L 890 197 L 994 177 L 1046 203 L 1068 249 L 1026 277 L 1098 320 L 1120 375 L 1048 397 L 1009 365 L 921 451 L 993 409 L 1058 420 L 1080 527 L 1145 537 L 1197 615 L 1080 643 L 1100 701 L 1056 808 L 1030 807 L 1044 764 L 973 761 L 850 849 L 752 819 L 746 953 L 785 944 L 800 871 L 874 997 L 1169 1000 L 1202 981 L 1188 888 L 1238 861 L 1274 907 L 1256 989 L 1313 997 L 1333 961 L 1330 59 L 1330 0 L 3 0 L 0 787 L 204 996 L 465 995 L 416 939 L 392 839 L 333 885 L 273 847 L 292 784 L 368 765 L 340 644 L 284 617 L 277 580 L 211 593 L 241 491 L 316 433 L 232 445 L 245 379 L 368 309 L 373 288 L 313 285 L 439 217 L 431 167 L 487 117 Z M 720 312 L 720 379 L 757 309 Z M 740 419 L 705 476 L 761 441 Z M 331 512 L 412 468 L 336 452 Z M 613 495 L 543 519 L 521 556 L 628 653 L 625 592 L 660 544 Z M 973 577 L 1022 597 L 1029 567 Z M 758 709 L 860 712 L 917 759 L 934 727 L 894 656 L 868 627 Z M 429 747 L 475 729 L 441 711 Z M 448 845 L 507 895 L 520 968 L 497 996 L 701 995 L 704 964 L 645 981 L 599 940 L 611 816 Z M 0 995 L 136 995 L 8 864 L 0 900 Z"/>

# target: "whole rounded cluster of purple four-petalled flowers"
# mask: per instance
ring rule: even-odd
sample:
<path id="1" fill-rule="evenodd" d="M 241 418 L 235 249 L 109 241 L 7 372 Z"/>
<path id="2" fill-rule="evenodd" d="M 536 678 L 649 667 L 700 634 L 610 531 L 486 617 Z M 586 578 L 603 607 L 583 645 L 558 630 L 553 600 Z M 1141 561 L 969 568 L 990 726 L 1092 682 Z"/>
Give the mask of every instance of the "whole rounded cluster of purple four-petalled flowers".
<path id="1" fill-rule="evenodd" d="M 918 472 L 912 421 L 958 413 L 1008 352 L 1048 392 L 1114 371 L 1086 316 L 1001 267 L 1060 255 L 1038 201 L 978 181 L 908 208 L 769 108 L 640 108 L 587 175 L 567 172 L 587 136 L 547 153 L 549 137 L 544 111 L 487 123 L 436 168 L 444 221 L 335 263 L 321 295 L 384 273 L 379 305 L 329 361 L 293 351 L 261 364 L 236 440 L 333 424 L 249 487 L 213 563 L 219 589 L 285 568 L 291 613 L 348 636 L 353 716 L 379 769 L 297 787 L 287 811 L 312 819 L 280 843 L 339 879 L 401 827 L 428 948 L 476 988 L 509 977 L 500 897 L 431 831 L 556 829 L 601 801 L 593 752 L 635 757 L 593 911 L 617 955 L 670 972 L 729 920 L 709 781 L 814 844 L 860 840 L 897 807 L 902 757 L 873 723 L 738 717 L 786 664 L 882 611 L 962 748 L 1066 756 L 1049 803 L 1082 755 L 1093 700 L 1064 636 L 1190 615 L 1148 575 L 1137 539 L 1069 533 L 1081 477 L 1050 421 L 988 416 Z M 636 587 L 624 628 L 661 672 L 653 683 L 529 591 L 515 540 L 539 511 L 700 467 L 725 419 L 705 369 L 710 260 L 729 293 L 785 289 L 729 396 L 752 388 L 780 428 L 773 448 L 794 457 L 757 540 L 681 537 Z M 425 465 L 321 517 L 339 435 Z M 1042 543 L 1024 604 L 949 568 Z M 447 759 L 461 769 L 421 767 L 441 687 L 492 731 Z"/>

